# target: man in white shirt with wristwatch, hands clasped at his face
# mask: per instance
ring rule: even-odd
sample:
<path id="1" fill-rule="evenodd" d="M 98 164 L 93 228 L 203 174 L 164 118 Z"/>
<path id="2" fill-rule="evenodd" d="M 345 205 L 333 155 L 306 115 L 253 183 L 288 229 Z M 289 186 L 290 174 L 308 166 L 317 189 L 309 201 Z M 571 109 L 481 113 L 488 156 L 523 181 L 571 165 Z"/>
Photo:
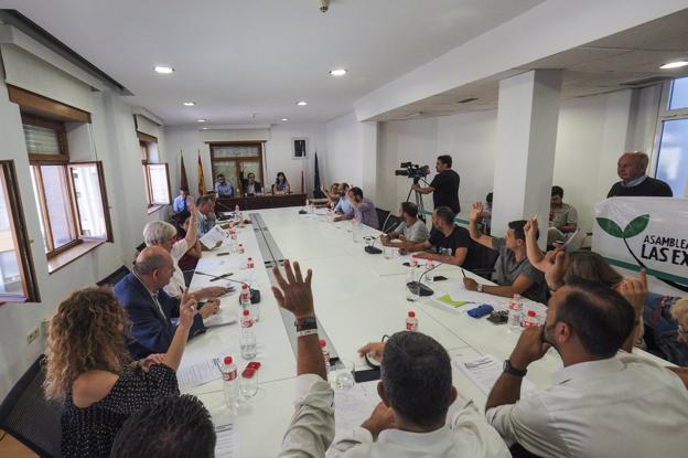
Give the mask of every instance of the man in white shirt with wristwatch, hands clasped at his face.
<path id="1" fill-rule="evenodd" d="M 688 391 L 671 371 L 619 353 L 632 306 L 590 281 L 558 289 L 544 327 L 525 330 L 487 397 L 487 420 L 507 444 L 542 457 L 685 456 Z M 552 386 L 520 397 L 528 366 L 553 347 Z"/>

